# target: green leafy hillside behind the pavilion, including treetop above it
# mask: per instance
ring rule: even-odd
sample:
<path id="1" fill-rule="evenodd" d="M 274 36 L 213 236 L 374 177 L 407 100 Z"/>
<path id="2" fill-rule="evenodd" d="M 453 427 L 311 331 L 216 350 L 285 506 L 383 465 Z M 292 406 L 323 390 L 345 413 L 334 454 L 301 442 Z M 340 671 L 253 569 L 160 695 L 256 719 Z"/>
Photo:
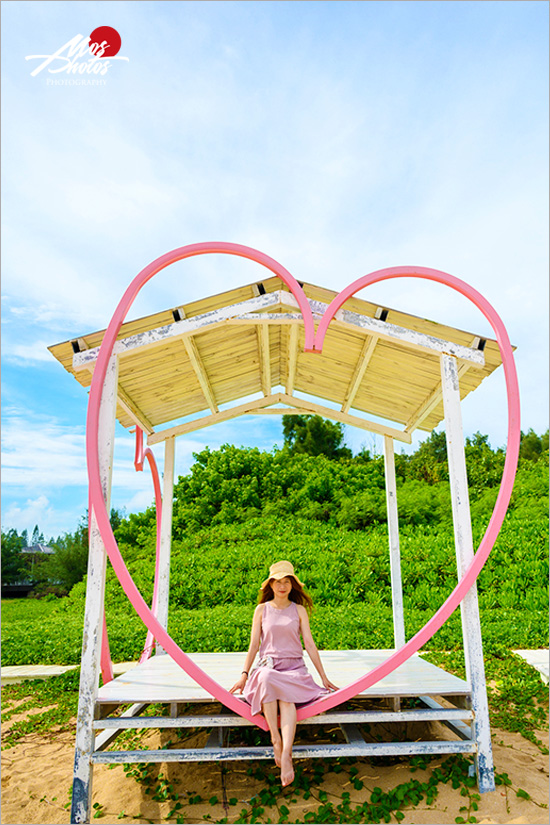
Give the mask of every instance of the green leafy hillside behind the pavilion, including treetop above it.
<path id="1" fill-rule="evenodd" d="M 295 565 L 313 596 L 312 628 L 320 647 L 393 646 L 383 458 L 365 450 L 352 458 L 338 452 L 342 439 L 334 430 L 324 441 L 332 457 L 311 455 L 302 449 L 312 432 L 311 423 L 307 426 L 302 422 L 303 438 L 295 427 L 285 447 L 271 452 L 230 445 L 206 449 L 179 478 L 169 631 L 184 649 L 245 649 L 259 584 L 281 558 Z M 319 432 L 323 428 L 317 425 Z M 493 450 L 478 433 L 467 440 L 466 460 L 477 546 L 496 500 L 504 452 Z M 457 582 L 444 433 L 433 433 L 411 456 L 396 456 L 396 474 L 410 638 Z M 111 515 L 123 558 L 150 603 L 154 508 L 125 518 Z M 60 544 L 69 568 L 71 550 L 79 551 L 82 562 L 85 531 L 82 523 Z M 486 650 L 547 645 L 547 546 L 548 435 L 530 432 L 522 437 L 509 511 L 478 579 Z M 59 571 L 58 566 L 57 576 Z M 47 617 L 17 621 L 8 603 L 4 664 L 78 663 L 85 578 L 71 584 L 69 596 L 56 599 Z M 113 658 L 139 656 L 145 630 L 110 566 L 106 613 Z M 451 650 L 461 644 L 456 611 L 430 647 Z"/>

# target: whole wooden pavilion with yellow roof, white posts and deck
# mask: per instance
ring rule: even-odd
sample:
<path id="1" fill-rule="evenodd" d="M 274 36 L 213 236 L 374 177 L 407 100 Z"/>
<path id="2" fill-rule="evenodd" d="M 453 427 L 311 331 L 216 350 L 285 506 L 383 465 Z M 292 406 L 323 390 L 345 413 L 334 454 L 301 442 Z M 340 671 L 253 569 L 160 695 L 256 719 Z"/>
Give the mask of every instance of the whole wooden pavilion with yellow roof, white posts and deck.
<path id="1" fill-rule="evenodd" d="M 336 293 L 313 284 L 300 286 L 317 321 Z M 86 334 L 52 346 L 50 351 L 83 387 L 88 387 L 104 335 L 105 330 Z M 430 432 L 442 420 L 447 434 L 459 578 L 473 558 L 460 401 L 501 364 L 495 340 L 352 297 L 331 321 L 322 353 L 306 352 L 303 316 L 296 298 L 280 278 L 266 277 L 124 323 L 111 362 L 111 389 L 104 393 L 111 410 L 106 420 L 111 423 L 102 459 L 107 506 L 115 416 L 123 427 L 144 431 L 149 445 L 164 443 L 156 606 L 156 617 L 163 627 L 168 620 L 176 439 L 240 415 L 319 414 L 383 436 L 395 648 L 405 643 L 405 621 L 394 442 L 410 443 L 415 430 Z M 73 822 L 89 821 L 92 768 L 100 762 L 272 758 L 270 747 L 227 746 L 227 731 L 251 723 L 223 706 L 214 715 L 183 715 L 184 703 L 214 701 L 213 697 L 158 645 L 157 655 L 98 687 L 106 560 L 101 537 L 93 529 L 90 533 Z M 340 725 L 343 741 L 298 745 L 295 756 L 472 753 L 480 790 L 493 790 L 475 585 L 461 603 L 461 612 L 466 679 L 414 656 L 357 697 L 388 700 L 385 709 L 337 708 L 302 720 L 302 724 Z M 323 662 L 329 675 L 337 673 L 339 682 L 349 683 L 388 654 L 378 650 L 324 651 Z M 230 685 L 238 677 L 244 653 L 190 656 L 213 678 Z M 405 709 L 401 705 L 405 697 L 419 700 L 416 707 Z M 152 702 L 168 704 L 170 716 L 140 716 Z M 120 706 L 124 708 L 122 716 L 113 716 Z M 448 741 L 372 742 L 366 741 L 358 727 L 373 721 L 435 720 L 450 727 L 456 737 Z M 204 748 L 105 750 L 127 728 L 201 725 L 212 729 Z M 96 735 L 99 730 L 102 733 Z"/>

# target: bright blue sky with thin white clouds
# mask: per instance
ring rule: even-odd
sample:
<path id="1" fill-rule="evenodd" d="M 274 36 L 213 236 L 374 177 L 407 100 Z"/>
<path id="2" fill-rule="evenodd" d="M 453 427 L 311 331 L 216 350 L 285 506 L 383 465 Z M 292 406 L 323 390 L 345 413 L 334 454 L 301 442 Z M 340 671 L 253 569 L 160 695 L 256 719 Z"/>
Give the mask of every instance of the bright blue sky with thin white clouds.
<path id="1" fill-rule="evenodd" d="M 197 241 L 261 249 L 335 290 L 405 264 L 468 281 L 518 348 L 523 429 L 547 428 L 547 3 L 39 0 L 2 12 L 4 529 L 38 523 L 48 538 L 87 506 L 87 393 L 46 347 L 107 326 L 137 272 Z M 27 55 L 103 25 L 128 57 L 104 85 L 31 76 Z M 182 262 L 131 317 L 256 272 Z M 490 334 L 435 284 L 362 297 Z M 498 370 L 464 403 L 466 434 L 504 445 L 504 404 Z M 225 442 L 270 449 L 281 426 L 237 419 L 181 438 L 177 472 Z M 127 512 L 152 498 L 132 460 L 119 427 L 113 503 Z"/>

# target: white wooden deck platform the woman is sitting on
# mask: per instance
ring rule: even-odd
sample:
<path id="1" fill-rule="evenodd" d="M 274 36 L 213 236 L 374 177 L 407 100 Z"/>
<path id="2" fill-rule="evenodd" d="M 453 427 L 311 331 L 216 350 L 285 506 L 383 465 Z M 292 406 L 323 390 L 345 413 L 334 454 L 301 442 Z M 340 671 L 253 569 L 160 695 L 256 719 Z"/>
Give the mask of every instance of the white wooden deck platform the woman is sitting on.
<path id="1" fill-rule="evenodd" d="M 383 662 L 391 650 L 325 650 L 322 659 L 329 678 L 346 685 Z M 220 684 L 231 687 L 239 678 L 244 652 L 193 653 L 193 661 Z M 312 675 L 315 670 L 307 657 Z M 364 703 L 361 709 L 334 708 L 326 713 L 299 722 L 300 725 L 334 726 L 342 731 L 343 741 L 319 744 L 315 740 L 294 748 L 298 758 L 330 756 L 408 755 L 413 753 L 476 753 L 477 743 L 472 730 L 474 714 L 469 706 L 470 686 L 442 668 L 426 662 L 418 654 L 411 657 L 392 674 L 376 685 L 358 694 L 360 699 L 390 699 L 390 707 L 373 709 Z M 416 697 L 414 708 L 401 706 L 400 699 Z M 445 697 L 445 698 L 443 698 Z M 450 700 L 450 701 L 449 701 Z M 243 700 L 244 701 L 244 700 Z M 228 747 L 227 731 L 252 723 L 223 706 L 213 714 L 196 715 L 178 712 L 186 703 L 216 702 L 197 685 L 168 655 L 153 656 L 149 661 L 117 676 L 99 690 L 96 704 L 95 738 L 92 762 L 135 761 L 224 761 L 232 759 L 272 759 L 273 749 L 267 746 Z M 111 716 L 119 705 L 131 704 L 122 716 Z M 142 716 L 149 704 L 170 704 L 170 716 Z M 219 704 L 219 703 L 218 703 Z M 393 709 L 392 709 L 393 708 Z M 180 711 L 181 712 L 181 711 Z M 368 723 L 435 722 L 449 727 L 456 738 L 449 741 L 428 739 L 414 742 L 366 741 L 357 727 Z M 129 728 L 207 728 L 211 731 L 202 748 L 169 749 L 162 751 L 106 751 L 122 730 Z M 429 728 L 426 728 L 429 733 Z"/>

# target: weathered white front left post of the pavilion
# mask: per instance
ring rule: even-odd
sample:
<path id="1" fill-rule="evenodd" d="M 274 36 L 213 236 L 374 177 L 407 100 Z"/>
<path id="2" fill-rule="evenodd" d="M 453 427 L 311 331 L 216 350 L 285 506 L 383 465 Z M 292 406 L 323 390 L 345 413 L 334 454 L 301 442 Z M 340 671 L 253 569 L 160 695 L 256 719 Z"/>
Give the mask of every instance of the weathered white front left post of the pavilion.
<path id="1" fill-rule="evenodd" d="M 103 498 L 110 512 L 111 478 L 115 440 L 118 383 L 118 356 L 109 361 L 99 411 L 99 470 Z M 80 692 L 76 723 L 71 822 L 90 822 L 92 804 L 92 762 L 95 734 L 92 727 L 99 686 L 105 571 L 107 554 L 93 512 L 88 513 L 88 578 L 82 638 Z"/>

